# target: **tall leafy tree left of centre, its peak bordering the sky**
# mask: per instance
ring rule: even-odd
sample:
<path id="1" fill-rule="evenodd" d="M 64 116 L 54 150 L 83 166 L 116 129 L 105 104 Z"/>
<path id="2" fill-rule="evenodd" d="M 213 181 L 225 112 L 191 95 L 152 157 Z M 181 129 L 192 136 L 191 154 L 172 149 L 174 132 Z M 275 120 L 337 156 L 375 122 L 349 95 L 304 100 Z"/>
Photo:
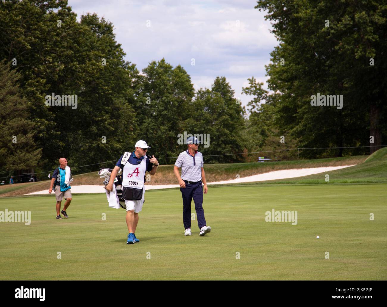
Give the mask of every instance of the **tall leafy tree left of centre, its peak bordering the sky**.
<path id="1" fill-rule="evenodd" d="M 71 117 L 65 129 L 57 126 L 73 166 L 118 160 L 128 145 L 132 148 L 138 130 L 136 112 L 127 101 L 139 73 L 134 64 L 123 60 L 125 53 L 115 41 L 113 24 L 87 14 L 81 16 L 80 27 L 83 35 L 74 38 L 79 48 L 77 72 L 62 89 L 78 95 L 78 107 L 65 110 Z M 63 109 L 55 107 L 53 112 L 63 114 Z"/>

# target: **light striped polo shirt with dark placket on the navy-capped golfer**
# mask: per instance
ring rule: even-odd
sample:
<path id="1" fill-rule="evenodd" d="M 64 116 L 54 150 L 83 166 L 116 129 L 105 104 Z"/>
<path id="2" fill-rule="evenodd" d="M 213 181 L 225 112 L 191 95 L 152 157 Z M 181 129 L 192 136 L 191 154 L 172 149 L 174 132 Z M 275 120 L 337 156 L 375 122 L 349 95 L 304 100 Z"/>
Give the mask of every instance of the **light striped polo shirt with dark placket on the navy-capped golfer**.
<path id="1" fill-rule="evenodd" d="M 188 150 L 180 153 L 175 165 L 182 168 L 182 179 L 188 181 L 202 180 L 203 155 L 201 152 L 195 152 L 192 156 Z"/>

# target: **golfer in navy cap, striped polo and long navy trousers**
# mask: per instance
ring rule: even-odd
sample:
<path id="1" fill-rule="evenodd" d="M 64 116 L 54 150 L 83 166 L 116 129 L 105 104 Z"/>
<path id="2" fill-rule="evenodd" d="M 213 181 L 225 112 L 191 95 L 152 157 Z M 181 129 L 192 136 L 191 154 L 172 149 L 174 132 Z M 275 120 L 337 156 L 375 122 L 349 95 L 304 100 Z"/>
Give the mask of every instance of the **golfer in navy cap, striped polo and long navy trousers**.
<path id="1" fill-rule="evenodd" d="M 180 192 L 183 196 L 183 224 L 185 228 L 184 235 L 191 235 L 191 202 L 194 198 L 197 223 L 199 225 L 199 235 L 205 235 L 211 231 L 207 226 L 203 210 L 203 188 L 204 194 L 207 194 L 207 182 L 203 169 L 203 155 L 198 152 L 199 141 L 195 137 L 187 139 L 187 150 L 180 153 L 175 162 L 173 172 L 175 173 L 179 184 Z M 182 168 L 180 177 L 179 168 Z M 202 182 L 204 186 L 202 186 Z"/>

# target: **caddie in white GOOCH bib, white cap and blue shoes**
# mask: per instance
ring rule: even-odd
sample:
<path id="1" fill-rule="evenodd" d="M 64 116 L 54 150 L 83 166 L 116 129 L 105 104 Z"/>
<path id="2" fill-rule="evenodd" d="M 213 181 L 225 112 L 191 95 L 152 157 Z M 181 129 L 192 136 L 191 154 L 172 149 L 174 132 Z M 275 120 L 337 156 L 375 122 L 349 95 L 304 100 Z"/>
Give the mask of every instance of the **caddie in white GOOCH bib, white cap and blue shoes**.
<path id="1" fill-rule="evenodd" d="M 145 196 L 145 173 L 156 174 L 159 162 L 152 156 L 146 155 L 148 148 L 146 142 L 139 140 L 134 152 L 125 152 L 110 175 L 110 181 L 106 186 L 108 191 L 113 189 L 113 181 L 118 171 L 122 169 L 122 197 L 126 205 L 126 223 L 128 225 L 128 239 L 126 244 L 140 242 L 136 238 L 135 231 L 139 223 L 139 212 L 142 210 Z M 152 165 L 152 164 L 153 165 Z"/>

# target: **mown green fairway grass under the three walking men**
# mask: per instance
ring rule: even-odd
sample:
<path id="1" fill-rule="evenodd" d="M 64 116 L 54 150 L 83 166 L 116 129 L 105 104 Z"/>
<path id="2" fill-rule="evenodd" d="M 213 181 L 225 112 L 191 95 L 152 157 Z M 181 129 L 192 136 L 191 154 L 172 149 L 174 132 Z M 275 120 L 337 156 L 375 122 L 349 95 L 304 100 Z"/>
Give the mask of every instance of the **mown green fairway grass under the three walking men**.
<path id="1" fill-rule="evenodd" d="M 63 220 L 55 219 L 53 195 L 1 198 L 1 211 L 31 211 L 32 221 L 0 222 L 0 279 L 387 278 L 386 184 L 210 186 L 204 211 L 212 230 L 204 237 L 197 220 L 183 235 L 178 189 L 147 191 L 145 199 L 140 243 L 127 245 L 125 211 L 109 208 L 104 194 L 74 195 Z M 297 211 L 297 225 L 265 222 L 273 208 Z"/>

